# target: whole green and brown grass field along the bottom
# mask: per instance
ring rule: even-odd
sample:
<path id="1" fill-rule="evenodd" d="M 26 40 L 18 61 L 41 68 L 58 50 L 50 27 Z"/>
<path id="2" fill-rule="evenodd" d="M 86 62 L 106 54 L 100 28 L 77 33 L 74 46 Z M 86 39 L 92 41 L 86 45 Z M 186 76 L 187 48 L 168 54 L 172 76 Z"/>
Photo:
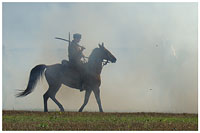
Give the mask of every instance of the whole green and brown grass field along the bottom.
<path id="1" fill-rule="evenodd" d="M 198 130 L 197 114 L 3 111 L 2 130 Z"/>

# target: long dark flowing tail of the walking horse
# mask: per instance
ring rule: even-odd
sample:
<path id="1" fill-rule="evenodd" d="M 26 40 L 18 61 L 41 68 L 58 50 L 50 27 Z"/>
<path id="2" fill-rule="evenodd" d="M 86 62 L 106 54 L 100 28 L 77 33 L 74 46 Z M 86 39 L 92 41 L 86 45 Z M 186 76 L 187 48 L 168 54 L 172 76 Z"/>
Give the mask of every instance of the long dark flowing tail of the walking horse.
<path id="1" fill-rule="evenodd" d="M 28 86 L 27 86 L 26 90 L 17 94 L 17 97 L 26 96 L 33 91 L 33 89 L 35 88 L 35 86 L 37 84 L 37 81 L 40 79 L 40 77 L 43 76 L 44 70 L 46 67 L 47 67 L 46 65 L 41 64 L 41 65 L 35 66 L 31 70 L 29 81 L 28 81 Z"/>

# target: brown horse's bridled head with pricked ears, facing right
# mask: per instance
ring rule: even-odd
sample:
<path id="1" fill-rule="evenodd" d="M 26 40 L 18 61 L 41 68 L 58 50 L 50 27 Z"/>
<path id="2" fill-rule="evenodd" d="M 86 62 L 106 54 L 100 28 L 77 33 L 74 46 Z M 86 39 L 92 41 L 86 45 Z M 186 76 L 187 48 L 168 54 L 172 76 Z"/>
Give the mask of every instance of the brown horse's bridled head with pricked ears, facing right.
<path id="1" fill-rule="evenodd" d="M 108 51 L 105 47 L 104 44 L 99 44 L 99 49 L 101 50 L 101 57 L 103 60 L 106 60 L 107 62 L 110 61 L 112 63 L 115 63 L 117 59 L 115 58 L 114 55 L 111 54 L 110 51 Z"/>

